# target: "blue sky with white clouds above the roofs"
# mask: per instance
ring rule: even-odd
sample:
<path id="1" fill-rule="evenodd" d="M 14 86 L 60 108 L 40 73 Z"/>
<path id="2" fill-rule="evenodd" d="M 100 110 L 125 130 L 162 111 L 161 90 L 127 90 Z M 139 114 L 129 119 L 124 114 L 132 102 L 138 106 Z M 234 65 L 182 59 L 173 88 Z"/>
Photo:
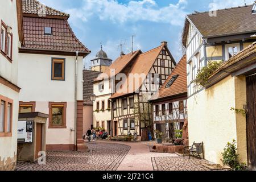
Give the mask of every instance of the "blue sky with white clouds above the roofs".
<path id="1" fill-rule="evenodd" d="M 245 0 L 39 0 L 70 15 L 68 20 L 77 38 L 92 51 L 85 57 L 89 68 L 102 43 L 110 59 L 123 52 L 146 52 L 168 42 L 176 62 L 182 56 L 181 35 L 185 16 L 195 11 L 210 11 L 245 5 Z M 254 0 L 246 0 L 253 4 Z"/>

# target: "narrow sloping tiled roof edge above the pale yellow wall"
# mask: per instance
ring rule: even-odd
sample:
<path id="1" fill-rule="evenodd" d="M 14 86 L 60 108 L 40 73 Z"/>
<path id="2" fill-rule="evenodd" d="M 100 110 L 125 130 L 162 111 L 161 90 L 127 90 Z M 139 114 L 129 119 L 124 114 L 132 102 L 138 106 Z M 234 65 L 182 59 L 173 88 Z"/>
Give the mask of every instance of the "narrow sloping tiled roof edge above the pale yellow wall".
<path id="1" fill-rule="evenodd" d="M 256 53 L 256 42 L 254 42 L 253 44 L 251 44 L 247 48 L 243 49 L 242 51 L 240 51 L 240 53 L 231 57 L 228 61 L 226 61 L 224 64 L 222 64 L 220 66 L 220 68 L 218 68 L 212 74 L 212 76 L 209 77 L 209 79 L 212 78 L 214 75 L 217 75 L 217 73 L 219 73 L 219 72 L 223 71 L 224 69 L 230 67 L 231 65 L 238 63 L 239 61 L 241 61 L 245 57 L 252 55 L 253 53 Z"/>

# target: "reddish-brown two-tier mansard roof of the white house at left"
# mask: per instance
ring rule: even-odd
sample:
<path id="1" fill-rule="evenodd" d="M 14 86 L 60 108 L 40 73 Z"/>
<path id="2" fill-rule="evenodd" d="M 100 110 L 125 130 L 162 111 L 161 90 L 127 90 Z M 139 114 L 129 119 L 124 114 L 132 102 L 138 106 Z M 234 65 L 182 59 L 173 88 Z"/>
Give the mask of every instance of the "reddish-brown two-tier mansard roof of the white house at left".
<path id="1" fill-rule="evenodd" d="M 30 16 L 28 13 L 35 14 L 35 6 L 39 2 L 35 0 L 23 0 L 22 2 L 24 7 L 23 34 L 25 44 L 21 49 L 73 53 L 79 51 L 83 56 L 90 53 L 89 49 L 76 38 L 76 35 L 69 26 L 67 18 L 58 19 Z M 47 14 L 64 16 L 63 13 L 57 13 L 59 11 L 50 10 L 46 11 Z M 52 35 L 44 35 L 44 27 L 51 27 Z"/>

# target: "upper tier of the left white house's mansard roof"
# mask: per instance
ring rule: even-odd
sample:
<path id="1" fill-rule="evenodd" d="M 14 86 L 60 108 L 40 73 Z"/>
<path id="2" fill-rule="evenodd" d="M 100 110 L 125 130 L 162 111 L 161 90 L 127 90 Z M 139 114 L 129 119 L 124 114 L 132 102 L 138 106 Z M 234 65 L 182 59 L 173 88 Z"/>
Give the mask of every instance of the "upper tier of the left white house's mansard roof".
<path id="1" fill-rule="evenodd" d="M 45 9 L 42 10 L 42 7 L 45 7 Z M 44 6 L 42 3 L 36 0 L 22 0 L 22 11 L 25 14 L 46 13 L 46 15 L 67 16 L 67 17 L 69 16 L 66 13 L 52 9 L 51 7 L 48 7 L 48 6 Z"/>

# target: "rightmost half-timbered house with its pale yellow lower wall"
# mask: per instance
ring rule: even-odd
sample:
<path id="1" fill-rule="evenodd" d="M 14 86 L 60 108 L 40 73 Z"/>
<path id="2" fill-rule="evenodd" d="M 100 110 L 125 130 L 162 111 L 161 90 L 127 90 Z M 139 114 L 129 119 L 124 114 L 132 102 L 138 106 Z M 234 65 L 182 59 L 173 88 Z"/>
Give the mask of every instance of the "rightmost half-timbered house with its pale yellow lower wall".
<path id="1" fill-rule="evenodd" d="M 255 166 L 255 150 L 250 148 L 255 148 L 255 140 L 250 140 L 255 138 L 253 131 L 247 130 L 246 140 L 246 122 L 251 127 L 254 121 L 246 121 L 246 117 L 232 110 L 246 109 L 246 102 L 249 104 L 252 98 L 246 98 L 246 90 L 250 88 L 246 83 L 253 72 L 246 72 L 255 69 L 255 45 L 248 49 L 256 40 L 255 27 L 255 4 L 217 10 L 211 16 L 209 12 L 196 13 L 185 20 L 183 45 L 187 48 L 189 143 L 204 142 L 205 159 L 214 163 L 221 163 L 221 152 L 228 142 L 236 139 L 242 162 Z M 220 69 L 210 78 L 211 86 L 197 86 L 193 82 L 197 70 L 211 60 L 224 61 L 226 69 Z M 252 130 L 255 134 L 255 128 Z M 247 156 L 251 158 L 248 160 Z"/>

